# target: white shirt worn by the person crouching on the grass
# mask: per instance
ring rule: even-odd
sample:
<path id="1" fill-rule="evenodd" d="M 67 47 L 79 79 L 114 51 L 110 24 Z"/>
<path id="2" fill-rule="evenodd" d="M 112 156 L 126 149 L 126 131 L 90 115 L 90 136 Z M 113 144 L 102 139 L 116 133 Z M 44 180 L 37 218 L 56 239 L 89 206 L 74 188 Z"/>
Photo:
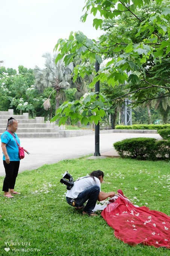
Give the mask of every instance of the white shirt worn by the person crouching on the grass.
<path id="1" fill-rule="evenodd" d="M 67 191 L 66 197 L 75 199 L 85 189 L 88 189 L 89 187 L 92 187 L 95 185 L 99 186 L 99 188 L 101 189 L 100 180 L 96 177 L 94 177 L 94 178 L 95 178 L 95 180 L 93 180 L 93 177 L 87 177 L 87 178 L 81 177 L 80 180 L 74 181 L 74 186 L 70 190 Z"/>

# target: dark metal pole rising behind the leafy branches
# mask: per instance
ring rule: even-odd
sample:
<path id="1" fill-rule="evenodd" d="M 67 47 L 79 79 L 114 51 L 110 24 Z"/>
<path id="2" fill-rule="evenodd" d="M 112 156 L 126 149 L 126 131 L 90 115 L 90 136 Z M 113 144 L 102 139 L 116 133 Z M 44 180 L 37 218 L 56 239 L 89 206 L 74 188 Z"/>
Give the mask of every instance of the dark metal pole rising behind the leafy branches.
<path id="1" fill-rule="evenodd" d="M 96 61 L 95 62 L 95 70 L 96 70 L 96 73 L 99 71 L 99 67 L 100 67 L 100 65 L 99 65 L 99 63 L 98 63 L 98 61 Z M 96 82 L 96 84 L 95 84 L 95 92 L 100 92 L 100 83 L 99 83 L 99 81 L 98 82 Z M 98 96 L 97 96 L 97 98 L 98 98 Z M 97 125 L 95 125 L 95 153 L 94 153 L 94 156 L 100 156 L 101 154 L 100 154 L 100 151 L 99 151 L 99 143 L 100 143 L 100 141 L 99 141 L 99 131 L 100 131 L 100 123 L 98 122 L 98 124 Z"/>

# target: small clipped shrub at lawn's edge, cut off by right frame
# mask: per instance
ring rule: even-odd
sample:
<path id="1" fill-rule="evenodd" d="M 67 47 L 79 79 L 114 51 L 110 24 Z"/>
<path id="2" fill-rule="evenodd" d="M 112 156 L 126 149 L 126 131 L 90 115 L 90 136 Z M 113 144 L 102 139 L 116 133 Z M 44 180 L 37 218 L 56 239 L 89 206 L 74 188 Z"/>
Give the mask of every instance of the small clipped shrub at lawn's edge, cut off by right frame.
<path id="1" fill-rule="evenodd" d="M 158 140 L 155 142 L 155 158 L 167 159 L 170 157 L 170 140 Z"/>

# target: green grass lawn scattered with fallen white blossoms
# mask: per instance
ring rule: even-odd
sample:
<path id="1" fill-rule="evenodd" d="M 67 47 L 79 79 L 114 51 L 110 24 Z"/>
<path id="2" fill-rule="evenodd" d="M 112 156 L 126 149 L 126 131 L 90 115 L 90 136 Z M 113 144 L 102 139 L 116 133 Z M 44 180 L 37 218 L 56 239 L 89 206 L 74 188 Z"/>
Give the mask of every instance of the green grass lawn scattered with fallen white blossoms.
<path id="1" fill-rule="evenodd" d="M 114 237 L 114 230 L 100 215 L 82 216 L 66 203 L 66 186 L 60 183 L 62 174 L 67 170 L 76 179 L 97 169 L 105 173 L 102 191 L 122 189 L 134 204 L 169 215 L 170 162 L 86 157 L 63 160 L 19 174 L 15 190 L 21 195 L 14 199 L 4 198 L 2 192 L 0 255 L 170 255 L 165 248 L 124 244 Z"/>

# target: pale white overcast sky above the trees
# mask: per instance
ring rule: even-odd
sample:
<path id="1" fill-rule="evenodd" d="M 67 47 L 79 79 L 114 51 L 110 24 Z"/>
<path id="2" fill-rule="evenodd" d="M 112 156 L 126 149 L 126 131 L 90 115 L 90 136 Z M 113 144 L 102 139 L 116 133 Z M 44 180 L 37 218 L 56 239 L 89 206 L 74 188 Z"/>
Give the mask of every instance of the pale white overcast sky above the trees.
<path id="1" fill-rule="evenodd" d="M 0 0 L 1 66 L 43 68 L 42 55 L 53 53 L 58 39 L 68 38 L 71 31 L 99 37 L 92 15 L 80 21 L 84 5 L 84 0 Z"/>

